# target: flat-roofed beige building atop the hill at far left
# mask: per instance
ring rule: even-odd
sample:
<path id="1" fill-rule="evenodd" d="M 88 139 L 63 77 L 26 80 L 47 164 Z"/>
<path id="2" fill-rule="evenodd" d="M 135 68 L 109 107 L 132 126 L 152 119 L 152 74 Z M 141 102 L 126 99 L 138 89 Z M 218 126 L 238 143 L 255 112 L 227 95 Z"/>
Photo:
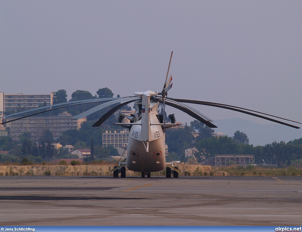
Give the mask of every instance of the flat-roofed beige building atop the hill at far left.
<path id="1" fill-rule="evenodd" d="M 0 112 L 16 111 L 18 107 L 38 108 L 41 104 L 53 104 L 53 93 L 50 94 L 5 94 L 0 92 Z"/>

